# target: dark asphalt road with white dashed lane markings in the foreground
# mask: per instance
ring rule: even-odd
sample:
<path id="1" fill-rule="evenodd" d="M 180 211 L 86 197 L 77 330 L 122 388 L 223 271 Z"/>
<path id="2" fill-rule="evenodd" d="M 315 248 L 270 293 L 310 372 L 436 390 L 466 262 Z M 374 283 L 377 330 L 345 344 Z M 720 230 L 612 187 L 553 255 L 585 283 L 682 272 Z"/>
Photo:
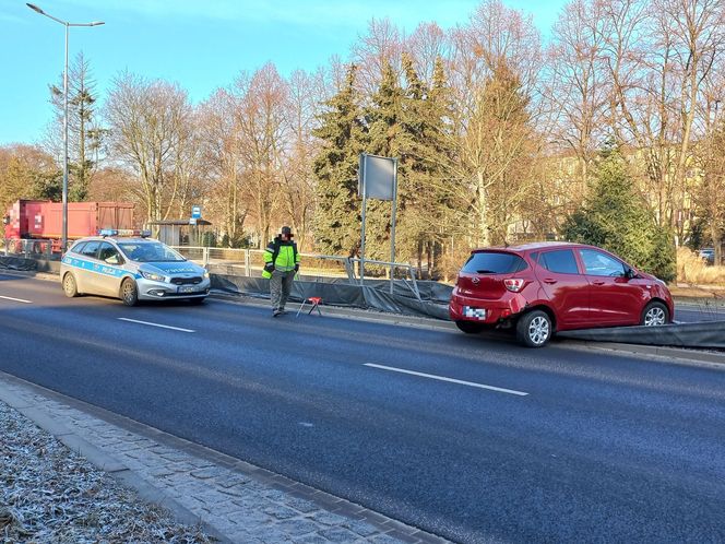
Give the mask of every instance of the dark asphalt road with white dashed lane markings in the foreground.
<path id="1" fill-rule="evenodd" d="M 725 367 L 2 275 L 0 346 L 0 370 L 453 541 L 725 542 Z"/>

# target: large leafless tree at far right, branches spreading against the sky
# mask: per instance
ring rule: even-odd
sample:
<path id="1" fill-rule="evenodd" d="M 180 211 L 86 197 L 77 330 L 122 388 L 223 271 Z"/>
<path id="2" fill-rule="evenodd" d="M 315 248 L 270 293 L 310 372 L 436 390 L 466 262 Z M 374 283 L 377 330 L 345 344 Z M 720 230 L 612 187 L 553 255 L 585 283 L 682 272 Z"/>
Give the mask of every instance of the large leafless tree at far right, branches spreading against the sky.
<path id="1" fill-rule="evenodd" d="M 608 0 L 611 127 L 645 165 L 661 225 L 684 234 L 696 118 L 725 39 L 722 0 Z M 638 161 L 634 161 L 637 164 Z"/>

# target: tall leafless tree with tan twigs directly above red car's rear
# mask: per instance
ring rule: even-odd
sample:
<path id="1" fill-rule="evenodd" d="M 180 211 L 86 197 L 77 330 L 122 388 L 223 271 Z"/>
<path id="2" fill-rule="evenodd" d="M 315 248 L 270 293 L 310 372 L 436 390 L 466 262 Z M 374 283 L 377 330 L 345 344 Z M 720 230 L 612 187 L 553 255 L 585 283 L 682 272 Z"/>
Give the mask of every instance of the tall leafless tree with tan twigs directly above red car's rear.
<path id="1" fill-rule="evenodd" d="M 500 0 L 486 0 L 452 39 L 460 166 L 451 190 L 473 212 L 477 244 L 506 241 L 532 188 L 526 170 L 538 145 L 532 130 L 538 108 L 532 102 L 538 95 L 538 33 L 531 17 Z"/>

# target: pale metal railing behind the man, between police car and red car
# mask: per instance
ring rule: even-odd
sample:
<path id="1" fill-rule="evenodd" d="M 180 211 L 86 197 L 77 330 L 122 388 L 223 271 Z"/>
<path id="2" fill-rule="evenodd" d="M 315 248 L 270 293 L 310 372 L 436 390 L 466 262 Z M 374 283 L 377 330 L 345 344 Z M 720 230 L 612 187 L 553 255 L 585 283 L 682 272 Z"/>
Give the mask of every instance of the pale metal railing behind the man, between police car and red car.
<path id="1" fill-rule="evenodd" d="M 261 272 L 264 268 L 263 249 L 231 249 L 231 248 L 210 248 L 199 246 L 174 246 L 175 250 L 183 255 L 187 259 L 199 262 L 209 269 L 212 264 L 224 264 L 238 269 L 240 275 L 250 277 L 253 271 Z M 350 257 L 341 257 L 334 255 L 299 253 L 300 263 L 307 275 L 318 277 L 344 277 L 352 285 L 362 285 L 364 281 L 355 274 L 356 268 L 359 269 L 360 259 Z M 393 293 L 396 275 L 403 280 L 406 287 L 413 295 L 420 300 L 420 292 L 417 285 L 417 269 L 411 263 L 375 261 L 365 259 L 366 272 L 368 279 L 375 280 L 375 273 L 381 277 L 390 280 L 390 293 Z M 396 271 L 403 271 L 403 274 L 396 274 Z M 373 277 L 370 277 L 370 274 Z"/>

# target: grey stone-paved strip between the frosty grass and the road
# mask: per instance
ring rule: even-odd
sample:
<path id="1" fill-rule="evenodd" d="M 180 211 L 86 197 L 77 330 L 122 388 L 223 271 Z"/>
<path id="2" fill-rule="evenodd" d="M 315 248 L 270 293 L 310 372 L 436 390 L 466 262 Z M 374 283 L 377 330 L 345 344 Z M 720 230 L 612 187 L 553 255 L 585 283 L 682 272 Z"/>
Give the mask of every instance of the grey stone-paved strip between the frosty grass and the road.
<path id="1" fill-rule="evenodd" d="M 0 372 L 0 403 L 25 416 L 20 419 L 32 427 L 15 429 L 15 434 L 37 430 L 35 425 L 41 427 L 122 486 L 135 489 L 143 500 L 170 510 L 176 521 L 189 525 L 186 532 L 175 528 L 177 533 L 171 533 L 183 537 L 170 539 L 168 532 L 164 536 L 156 531 L 161 536 L 157 542 L 166 542 L 167 537 L 174 542 L 207 542 L 199 527 L 212 539 L 245 544 L 447 542 L 280 474 L 4 372 Z M 7 416 L 8 412 L 12 411 L 0 405 L 0 415 Z M 0 441 L 9 430 L 0 429 Z M 75 458 L 67 452 L 69 463 L 79 462 Z M 46 476 L 52 481 L 57 469 L 49 466 L 45 468 L 50 471 Z M 12 493 L 12 478 L 3 483 L 5 490 L 8 485 Z M 0 512 L 2 507 L 0 504 Z M 144 522 L 151 523 L 145 516 L 133 521 L 136 527 Z M 2 523 L 0 519 L 0 533 Z M 189 536 L 193 534 L 197 536 Z M 49 542 L 41 534 L 27 536 L 33 542 Z M 95 539 L 105 541 L 108 534 L 97 534 Z"/>

